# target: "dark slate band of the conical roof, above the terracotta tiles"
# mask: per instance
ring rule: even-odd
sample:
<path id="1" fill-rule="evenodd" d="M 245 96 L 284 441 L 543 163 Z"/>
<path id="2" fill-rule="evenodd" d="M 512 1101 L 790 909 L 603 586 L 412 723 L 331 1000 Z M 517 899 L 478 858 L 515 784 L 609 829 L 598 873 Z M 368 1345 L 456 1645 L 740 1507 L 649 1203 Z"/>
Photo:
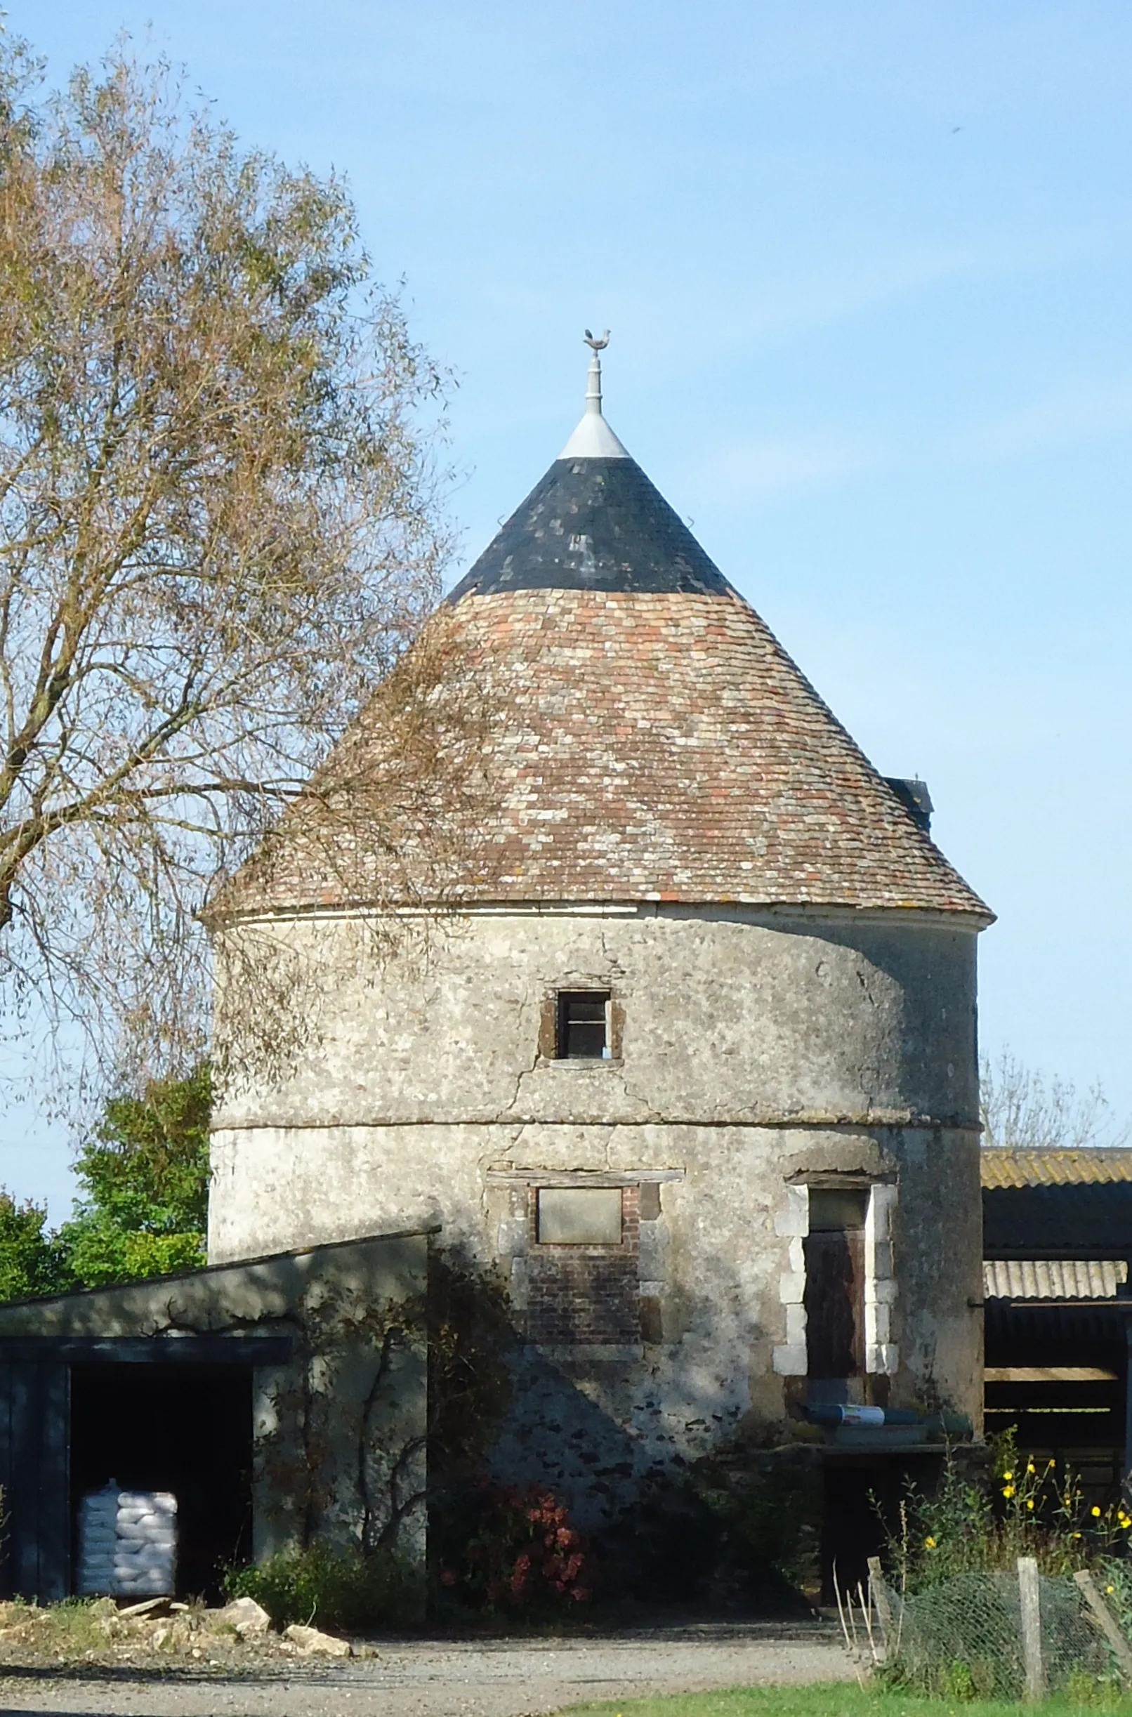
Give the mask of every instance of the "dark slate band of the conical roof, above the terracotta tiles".
<path id="1" fill-rule="evenodd" d="M 557 458 L 448 601 L 502 591 L 735 594 L 634 458 Z"/>

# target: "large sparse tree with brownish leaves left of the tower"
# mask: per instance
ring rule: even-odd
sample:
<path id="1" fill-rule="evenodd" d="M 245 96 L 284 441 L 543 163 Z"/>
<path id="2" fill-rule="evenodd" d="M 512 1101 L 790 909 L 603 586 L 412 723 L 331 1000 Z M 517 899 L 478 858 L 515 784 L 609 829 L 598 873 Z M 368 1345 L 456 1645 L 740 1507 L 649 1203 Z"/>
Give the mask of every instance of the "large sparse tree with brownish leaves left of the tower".
<path id="1" fill-rule="evenodd" d="M 40 79 L 0 43 L 0 986 L 160 1071 L 210 879 L 436 599 L 441 381 L 337 179 L 125 46 Z"/>

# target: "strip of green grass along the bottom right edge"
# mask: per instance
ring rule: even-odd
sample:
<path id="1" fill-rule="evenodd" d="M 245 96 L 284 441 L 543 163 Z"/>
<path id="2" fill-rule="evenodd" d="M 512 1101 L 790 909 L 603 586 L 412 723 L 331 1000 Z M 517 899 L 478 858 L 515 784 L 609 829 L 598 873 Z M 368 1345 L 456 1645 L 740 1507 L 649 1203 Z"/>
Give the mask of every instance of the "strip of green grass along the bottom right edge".
<path id="1" fill-rule="evenodd" d="M 866 1691 L 847 1683 L 804 1688 L 728 1688 L 721 1693 L 675 1693 L 666 1698 L 617 1700 L 603 1705 L 572 1705 L 569 1717 L 586 1712 L 599 1717 L 1079 1717 L 1105 1712 L 1132 1717 L 1132 1698 L 1046 1700 L 1041 1707 L 1003 1700 L 928 1700 L 914 1693 Z"/>

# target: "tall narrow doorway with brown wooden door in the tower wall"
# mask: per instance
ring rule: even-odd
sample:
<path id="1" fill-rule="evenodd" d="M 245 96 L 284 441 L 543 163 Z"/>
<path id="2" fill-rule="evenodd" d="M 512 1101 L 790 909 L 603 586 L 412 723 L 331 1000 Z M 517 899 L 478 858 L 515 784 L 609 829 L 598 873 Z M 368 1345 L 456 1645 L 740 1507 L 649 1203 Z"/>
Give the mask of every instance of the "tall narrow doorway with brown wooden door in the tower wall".
<path id="1" fill-rule="evenodd" d="M 806 1372 L 847 1380 L 864 1374 L 864 1217 L 867 1188 L 809 1192 L 806 1253 Z"/>

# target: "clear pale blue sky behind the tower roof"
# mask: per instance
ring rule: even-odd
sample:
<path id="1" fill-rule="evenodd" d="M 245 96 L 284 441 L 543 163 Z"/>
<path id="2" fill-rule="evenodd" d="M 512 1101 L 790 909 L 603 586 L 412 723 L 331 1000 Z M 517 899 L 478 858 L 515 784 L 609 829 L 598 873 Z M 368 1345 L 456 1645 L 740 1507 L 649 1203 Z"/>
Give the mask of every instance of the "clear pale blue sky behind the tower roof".
<path id="1" fill-rule="evenodd" d="M 349 177 L 462 565 L 613 330 L 617 433 L 998 912 L 986 1047 L 1132 1113 L 1127 0 L 9 0 L 53 77 L 124 26 Z M 10 1116 L 0 1180 L 65 1162 Z"/>

